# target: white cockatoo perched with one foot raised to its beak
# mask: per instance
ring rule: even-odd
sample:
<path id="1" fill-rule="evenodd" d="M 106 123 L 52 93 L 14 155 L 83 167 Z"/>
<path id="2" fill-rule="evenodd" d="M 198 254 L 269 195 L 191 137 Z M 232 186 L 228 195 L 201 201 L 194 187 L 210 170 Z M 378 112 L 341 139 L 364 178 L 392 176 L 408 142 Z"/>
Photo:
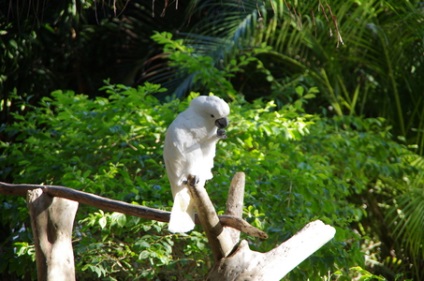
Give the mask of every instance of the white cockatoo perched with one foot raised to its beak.
<path id="1" fill-rule="evenodd" d="M 188 232 L 194 228 L 195 209 L 186 186 L 188 175 L 204 187 L 212 178 L 216 143 L 226 138 L 228 104 L 215 96 L 199 96 L 168 127 L 163 158 L 174 205 L 168 229 Z"/>

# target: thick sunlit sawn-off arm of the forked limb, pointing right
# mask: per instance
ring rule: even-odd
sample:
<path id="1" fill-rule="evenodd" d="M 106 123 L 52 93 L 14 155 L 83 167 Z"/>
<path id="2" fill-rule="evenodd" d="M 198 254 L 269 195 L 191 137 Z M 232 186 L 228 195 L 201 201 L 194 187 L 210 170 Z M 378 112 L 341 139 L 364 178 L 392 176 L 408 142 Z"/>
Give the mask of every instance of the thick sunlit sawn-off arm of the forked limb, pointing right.
<path id="1" fill-rule="evenodd" d="M 243 240 L 230 256 L 215 264 L 207 280 L 278 281 L 332 239 L 335 232 L 333 227 L 314 221 L 267 253 L 250 250 Z"/>

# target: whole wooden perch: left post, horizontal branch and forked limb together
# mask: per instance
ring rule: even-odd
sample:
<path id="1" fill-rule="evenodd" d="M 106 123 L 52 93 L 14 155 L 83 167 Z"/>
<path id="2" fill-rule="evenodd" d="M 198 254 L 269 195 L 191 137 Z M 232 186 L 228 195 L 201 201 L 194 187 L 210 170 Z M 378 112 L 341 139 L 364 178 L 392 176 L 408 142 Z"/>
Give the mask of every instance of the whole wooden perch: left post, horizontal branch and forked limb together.
<path id="1" fill-rule="evenodd" d="M 218 216 L 206 190 L 196 184 L 195 177 L 188 177 L 188 188 L 197 209 L 200 224 L 214 254 L 215 263 L 209 272 L 210 281 L 273 281 L 280 280 L 299 263 L 322 247 L 335 235 L 335 229 L 321 221 L 314 221 L 306 225 L 301 231 L 267 253 L 259 253 L 249 249 L 247 241 L 239 242 L 239 231 L 249 235 L 266 238 L 266 234 L 254 228 L 242 219 L 244 197 L 244 173 L 237 173 L 230 185 L 224 216 Z M 31 190 L 34 190 L 32 191 Z M 65 281 L 73 281 L 74 269 L 66 267 L 73 256 L 65 260 L 58 257 L 60 251 L 68 247 L 72 253 L 71 231 L 78 204 L 72 207 L 67 199 L 89 204 L 106 211 L 116 211 L 146 219 L 168 222 L 170 213 L 148 207 L 132 205 L 122 201 L 111 200 L 94 194 L 73 190 L 62 186 L 43 186 L 28 184 L 8 184 L 0 182 L 0 193 L 25 195 L 29 193 L 28 205 L 31 210 L 31 219 L 34 238 L 38 241 L 37 267 L 44 266 L 46 276 L 51 278 L 39 280 L 58 280 L 55 276 L 63 274 Z M 62 197 L 62 198 L 58 198 Z M 66 199 L 63 199 L 66 198 Z M 66 207 L 67 204 L 70 206 Z M 75 209 L 73 209 L 75 208 Z M 231 229 L 227 226 L 232 227 Z M 66 238 L 67 241 L 64 241 Z M 56 241 L 56 242 L 55 242 Z M 59 245 L 59 246 L 57 246 Z M 39 261 L 41 260 L 41 261 Z M 55 272 L 54 263 L 61 264 L 61 273 Z M 46 267 L 47 265 L 47 267 Z M 51 267 L 51 268 L 49 268 Z M 65 275 L 69 273 L 69 278 Z"/>

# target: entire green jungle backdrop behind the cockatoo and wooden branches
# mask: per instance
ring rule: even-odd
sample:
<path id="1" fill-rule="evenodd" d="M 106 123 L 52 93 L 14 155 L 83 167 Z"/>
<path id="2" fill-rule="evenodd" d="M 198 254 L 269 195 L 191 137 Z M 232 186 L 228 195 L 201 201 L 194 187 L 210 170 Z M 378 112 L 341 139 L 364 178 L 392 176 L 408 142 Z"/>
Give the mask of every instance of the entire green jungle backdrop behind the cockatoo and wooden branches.
<path id="1" fill-rule="evenodd" d="M 0 179 L 170 210 L 167 126 L 198 94 L 231 107 L 207 190 L 268 251 L 321 219 L 335 238 L 285 280 L 424 280 L 424 4 L 0 1 Z M 78 280 L 202 280 L 200 228 L 81 205 Z M 35 280 L 25 198 L 0 195 L 1 280 Z"/>

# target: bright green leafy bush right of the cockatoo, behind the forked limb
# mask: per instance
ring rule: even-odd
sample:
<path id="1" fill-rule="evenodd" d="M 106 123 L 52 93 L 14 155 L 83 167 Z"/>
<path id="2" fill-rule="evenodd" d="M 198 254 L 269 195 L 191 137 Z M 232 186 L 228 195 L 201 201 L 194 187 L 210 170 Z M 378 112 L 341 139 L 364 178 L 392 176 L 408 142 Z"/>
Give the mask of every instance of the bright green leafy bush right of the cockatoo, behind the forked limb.
<path id="1" fill-rule="evenodd" d="M 269 250 L 270 245 L 287 239 L 308 221 L 319 218 L 336 227 L 336 239 L 332 246 L 307 259 L 288 278 L 304 279 L 302 272 L 308 272 L 308 277 L 325 275 L 331 266 L 340 269 L 346 269 L 346 264 L 363 266 L 360 235 L 373 235 L 377 230 L 370 227 L 372 223 L 365 226 L 364 233 L 352 231 L 351 227 L 373 215 L 365 209 L 375 207 L 366 200 L 369 192 L 384 193 L 407 186 L 405 176 L 413 177 L 416 173 L 409 165 L 412 155 L 389 140 L 388 128 L 379 119 L 318 119 L 307 125 L 307 134 L 291 139 L 281 131 L 288 127 L 286 116 L 294 113 L 288 109 L 267 114 L 255 112 L 254 122 L 249 121 L 248 113 L 241 114 L 242 119 L 234 120 L 229 132 L 229 136 L 236 132 L 238 142 L 222 144 L 223 150 L 232 151 L 228 156 L 231 166 L 220 167 L 219 171 L 246 171 L 247 217 L 252 209 L 257 209 L 260 223 L 256 223 L 257 218 L 252 221 L 272 233 L 270 241 L 252 243 L 259 250 Z M 297 116 L 297 132 L 304 128 L 303 118 L 307 116 Z M 240 153 L 238 159 L 240 146 L 249 153 Z M 229 176 L 227 172 L 223 178 Z M 390 196 L 386 195 L 389 201 L 387 197 Z M 349 272 L 345 274 L 349 276 Z M 340 280 L 350 280 L 347 276 Z"/>

